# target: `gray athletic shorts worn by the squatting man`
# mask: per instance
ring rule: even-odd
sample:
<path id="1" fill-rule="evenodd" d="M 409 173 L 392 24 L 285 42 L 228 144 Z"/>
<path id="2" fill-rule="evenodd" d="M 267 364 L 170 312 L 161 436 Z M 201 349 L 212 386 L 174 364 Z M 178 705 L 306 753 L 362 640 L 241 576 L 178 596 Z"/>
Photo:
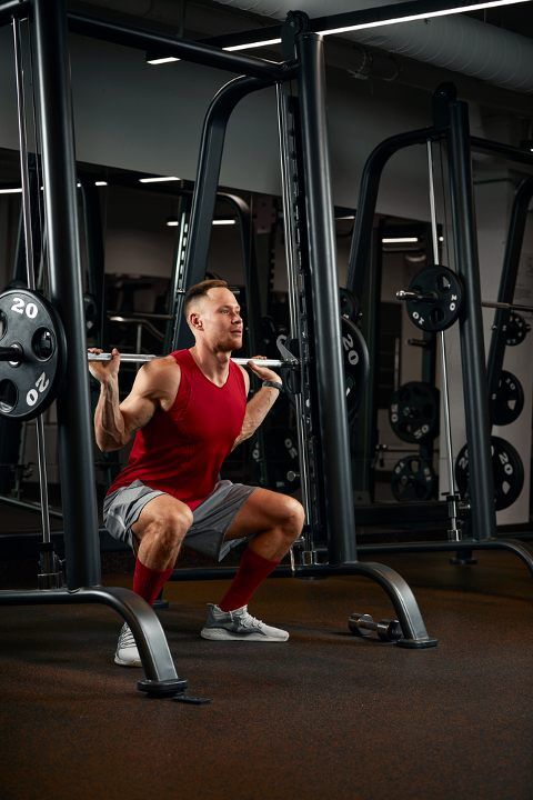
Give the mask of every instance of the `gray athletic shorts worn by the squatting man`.
<path id="1" fill-rule="evenodd" d="M 255 487 L 247 487 L 243 483 L 219 481 L 211 494 L 192 512 L 192 526 L 187 532 L 185 544 L 204 556 L 222 561 L 232 547 L 243 541 L 243 539 L 231 539 L 224 542 L 224 536 L 238 511 L 254 490 Z M 137 522 L 150 500 L 164 493 L 137 480 L 108 494 L 103 501 L 103 524 L 108 532 L 133 549 L 131 526 Z"/>

